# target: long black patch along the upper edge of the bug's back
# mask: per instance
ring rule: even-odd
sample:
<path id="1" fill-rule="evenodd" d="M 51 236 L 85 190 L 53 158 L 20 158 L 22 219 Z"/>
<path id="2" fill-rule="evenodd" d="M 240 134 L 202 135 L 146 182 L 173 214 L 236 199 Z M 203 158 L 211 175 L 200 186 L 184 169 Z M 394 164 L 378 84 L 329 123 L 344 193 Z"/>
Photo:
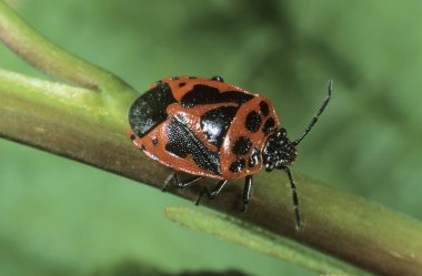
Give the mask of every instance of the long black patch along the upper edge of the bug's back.
<path id="1" fill-rule="evenodd" d="M 211 103 L 238 103 L 239 105 L 250 101 L 254 95 L 239 91 L 220 91 L 213 86 L 197 84 L 184 94 L 180 101 L 183 108 L 190 109 L 199 104 Z"/>

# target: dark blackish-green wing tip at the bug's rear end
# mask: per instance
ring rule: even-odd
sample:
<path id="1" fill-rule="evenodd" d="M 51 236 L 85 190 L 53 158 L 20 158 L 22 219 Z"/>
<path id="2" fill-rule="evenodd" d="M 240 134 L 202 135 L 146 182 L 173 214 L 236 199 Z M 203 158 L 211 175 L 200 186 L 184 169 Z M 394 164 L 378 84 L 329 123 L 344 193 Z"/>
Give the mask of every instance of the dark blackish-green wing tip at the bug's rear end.
<path id="1" fill-rule="evenodd" d="M 129 109 L 129 124 L 138 137 L 167 120 L 167 106 L 175 103 L 170 86 L 162 82 L 137 99 Z"/>

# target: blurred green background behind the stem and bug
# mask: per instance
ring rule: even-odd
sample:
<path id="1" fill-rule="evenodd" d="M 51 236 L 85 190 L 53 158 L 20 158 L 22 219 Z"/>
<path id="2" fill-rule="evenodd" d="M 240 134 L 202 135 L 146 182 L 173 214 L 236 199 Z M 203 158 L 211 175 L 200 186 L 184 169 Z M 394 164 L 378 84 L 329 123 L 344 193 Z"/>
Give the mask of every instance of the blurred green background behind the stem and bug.
<path id="1" fill-rule="evenodd" d="M 220 74 L 263 93 L 292 137 L 332 78 L 332 102 L 293 170 L 422 218 L 421 1 L 8 2 L 140 92 L 163 76 Z M 3 45 L 0 65 L 41 76 Z M 0 140 L 0 275 L 316 275 L 163 217 L 164 206 L 191 204 Z"/>

